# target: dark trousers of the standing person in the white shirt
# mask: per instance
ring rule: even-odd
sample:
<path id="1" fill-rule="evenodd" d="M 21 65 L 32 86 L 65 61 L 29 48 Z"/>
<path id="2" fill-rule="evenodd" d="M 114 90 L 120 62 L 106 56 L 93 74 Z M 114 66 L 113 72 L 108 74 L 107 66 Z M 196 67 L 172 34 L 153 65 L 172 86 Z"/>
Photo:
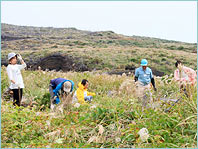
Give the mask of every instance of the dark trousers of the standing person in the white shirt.
<path id="1" fill-rule="evenodd" d="M 23 89 L 12 89 L 13 91 L 13 105 L 20 106 L 21 105 L 21 100 L 22 100 L 22 95 L 23 95 Z"/>

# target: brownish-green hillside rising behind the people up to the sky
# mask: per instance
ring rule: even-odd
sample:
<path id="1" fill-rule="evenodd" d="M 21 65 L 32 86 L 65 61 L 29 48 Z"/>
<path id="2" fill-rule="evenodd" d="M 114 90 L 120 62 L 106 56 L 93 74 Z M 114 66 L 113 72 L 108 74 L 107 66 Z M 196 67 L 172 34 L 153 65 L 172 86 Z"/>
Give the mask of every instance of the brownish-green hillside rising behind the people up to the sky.
<path id="1" fill-rule="evenodd" d="M 124 36 L 112 31 L 1 25 L 2 65 L 7 64 L 7 54 L 15 51 L 31 69 L 41 66 L 43 70 L 57 71 L 133 72 L 142 58 L 148 59 L 156 75 L 172 73 L 176 59 L 197 69 L 197 44 Z"/>

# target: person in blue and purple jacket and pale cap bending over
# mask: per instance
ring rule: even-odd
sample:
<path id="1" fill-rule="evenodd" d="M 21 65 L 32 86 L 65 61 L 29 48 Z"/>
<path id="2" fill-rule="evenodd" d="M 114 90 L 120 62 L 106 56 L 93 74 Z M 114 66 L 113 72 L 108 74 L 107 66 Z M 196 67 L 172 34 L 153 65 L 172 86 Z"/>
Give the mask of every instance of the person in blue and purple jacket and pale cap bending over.
<path id="1" fill-rule="evenodd" d="M 64 78 L 56 78 L 50 80 L 49 92 L 50 92 L 50 106 L 59 104 L 59 96 L 64 93 L 68 95 L 74 89 L 74 82 Z"/>

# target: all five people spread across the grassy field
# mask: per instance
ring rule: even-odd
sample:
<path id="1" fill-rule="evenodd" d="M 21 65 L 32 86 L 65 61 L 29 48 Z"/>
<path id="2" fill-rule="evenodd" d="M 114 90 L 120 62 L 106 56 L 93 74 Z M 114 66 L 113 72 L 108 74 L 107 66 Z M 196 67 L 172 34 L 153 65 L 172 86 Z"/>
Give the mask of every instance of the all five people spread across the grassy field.
<path id="1" fill-rule="evenodd" d="M 17 60 L 21 64 L 17 64 Z M 20 106 L 24 83 L 21 75 L 21 70 L 26 67 L 25 62 L 23 61 L 20 54 L 9 53 L 8 54 L 9 64 L 7 66 L 7 73 L 10 80 L 9 88 L 13 92 L 13 104 Z M 142 101 L 142 105 L 146 106 L 149 102 L 147 98 L 151 96 L 150 87 L 152 84 L 153 89 L 157 91 L 155 86 L 155 80 L 152 74 L 152 70 L 148 67 L 148 61 L 142 59 L 140 67 L 135 70 L 135 83 L 137 87 L 137 96 Z M 176 70 L 174 72 L 174 78 L 180 83 L 180 89 L 186 90 L 187 86 L 194 85 L 196 83 L 196 72 L 188 67 L 182 65 L 181 61 L 175 63 Z M 80 104 L 85 102 L 90 102 L 95 96 L 95 93 L 88 92 L 89 82 L 86 79 L 83 79 L 78 83 L 78 88 L 74 93 L 73 99 Z M 55 78 L 50 80 L 49 83 L 49 92 L 50 92 L 50 104 L 57 105 L 61 102 L 60 96 L 65 94 L 71 94 L 74 90 L 74 82 L 65 78 Z M 152 98 L 150 98 L 150 101 Z"/>

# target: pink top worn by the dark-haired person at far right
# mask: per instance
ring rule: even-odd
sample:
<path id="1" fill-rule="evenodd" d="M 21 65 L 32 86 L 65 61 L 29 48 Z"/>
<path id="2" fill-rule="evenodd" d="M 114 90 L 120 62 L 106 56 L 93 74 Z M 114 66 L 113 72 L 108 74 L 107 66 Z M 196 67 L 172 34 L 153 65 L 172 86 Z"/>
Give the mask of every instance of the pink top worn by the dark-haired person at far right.
<path id="1" fill-rule="evenodd" d="M 179 74 L 179 69 L 176 69 L 174 72 L 174 78 L 176 81 L 182 81 L 182 83 L 189 82 L 195 84 L 197 74 L 193 69 L 183 66 L 181 71 L 181 76 Z"/>

